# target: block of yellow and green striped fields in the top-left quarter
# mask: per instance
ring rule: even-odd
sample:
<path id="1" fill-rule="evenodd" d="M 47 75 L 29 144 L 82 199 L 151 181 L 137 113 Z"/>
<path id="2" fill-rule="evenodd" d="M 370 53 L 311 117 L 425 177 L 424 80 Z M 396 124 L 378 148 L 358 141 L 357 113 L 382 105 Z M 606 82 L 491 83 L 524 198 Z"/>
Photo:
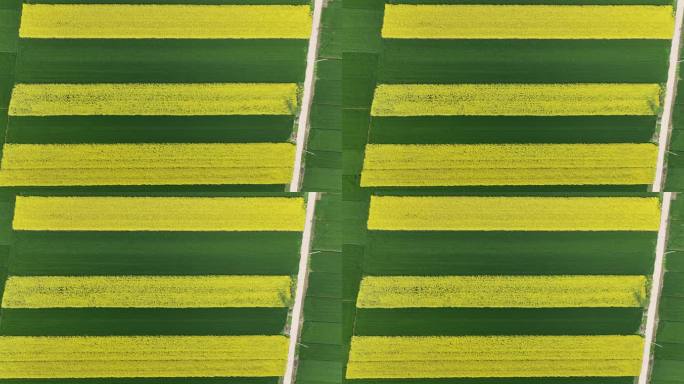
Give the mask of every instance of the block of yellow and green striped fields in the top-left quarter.
<path id="1" fill-rule="evenodd" d="M 308 1 L 21 8 L 0 185 L 290 183 Z"/>

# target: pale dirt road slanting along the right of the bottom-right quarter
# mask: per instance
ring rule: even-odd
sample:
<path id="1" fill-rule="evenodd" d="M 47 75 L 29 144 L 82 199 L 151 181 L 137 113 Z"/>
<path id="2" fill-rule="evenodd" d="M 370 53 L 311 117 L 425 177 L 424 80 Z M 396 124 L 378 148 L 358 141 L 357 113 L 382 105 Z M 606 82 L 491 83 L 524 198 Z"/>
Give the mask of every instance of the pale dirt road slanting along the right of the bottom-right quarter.
<path id="1" fill-rule="evenodd" d="M 667 225 L 670 218 L 671 201 L 672 192 L 663 193 L 662 205 L 660 208 L 660 228 L 658 229 L 656 257 L 653 267 L 653 278 L 651 280 L 651 293 L 648 301 L 648 311 L 646 312 L 644 355 L 641 359 L 641 371 L 639 373 L 638 384 L 648 384 L 650 379 L 651 349 L 654 343 L 656 329 L 658 328 L 658 304 L 660 303 L 660 292 L 663 288 L 663 266 L 665 261 L 665 250 L 667 248 Z"/>

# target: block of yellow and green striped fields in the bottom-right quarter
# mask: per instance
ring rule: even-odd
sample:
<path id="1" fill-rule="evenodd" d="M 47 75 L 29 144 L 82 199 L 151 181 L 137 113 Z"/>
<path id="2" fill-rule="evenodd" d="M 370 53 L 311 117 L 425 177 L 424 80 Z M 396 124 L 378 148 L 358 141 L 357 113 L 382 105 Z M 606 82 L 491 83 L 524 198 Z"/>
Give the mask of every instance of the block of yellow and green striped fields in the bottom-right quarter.
<path id="1" fill-rule="evenodd" d="M 659 218 L 646 194 L 373 195 L 347 379 L 632 382 Z"/>

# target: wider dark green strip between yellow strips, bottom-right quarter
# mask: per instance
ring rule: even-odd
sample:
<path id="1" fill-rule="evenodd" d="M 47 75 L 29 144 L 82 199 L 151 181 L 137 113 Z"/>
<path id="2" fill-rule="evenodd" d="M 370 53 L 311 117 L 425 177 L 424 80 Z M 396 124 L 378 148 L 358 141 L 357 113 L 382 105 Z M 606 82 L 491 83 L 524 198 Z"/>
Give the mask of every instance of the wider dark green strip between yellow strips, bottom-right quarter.
<path id="1" fill-rule="evenodd" d="M 655 241 L 654 232 L 369 231 L 363 271 L 376 276 L 650 275 Z"/>

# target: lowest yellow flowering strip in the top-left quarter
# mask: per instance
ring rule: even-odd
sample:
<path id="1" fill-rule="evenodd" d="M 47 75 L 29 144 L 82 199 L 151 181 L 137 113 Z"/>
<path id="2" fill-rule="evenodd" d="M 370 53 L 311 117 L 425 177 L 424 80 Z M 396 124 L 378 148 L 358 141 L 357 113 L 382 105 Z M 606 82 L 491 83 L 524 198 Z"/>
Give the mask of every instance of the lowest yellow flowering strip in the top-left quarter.
<path id="1" fill-rule="evenodd" d="M 291 143 L 5 144 L 0 186 L 287 184 Z"/>

